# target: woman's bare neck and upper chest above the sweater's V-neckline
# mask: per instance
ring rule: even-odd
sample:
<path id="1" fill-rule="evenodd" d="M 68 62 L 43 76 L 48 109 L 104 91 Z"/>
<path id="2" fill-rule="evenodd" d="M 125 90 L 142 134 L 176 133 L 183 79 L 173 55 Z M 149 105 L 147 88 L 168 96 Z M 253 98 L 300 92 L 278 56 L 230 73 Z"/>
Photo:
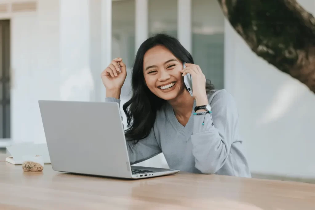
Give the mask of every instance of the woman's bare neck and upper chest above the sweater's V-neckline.
<path id="1" fill-rule="evenodd" d="M 172 106 L 176 116 L 190 116 L 194 100 L 188 91 L 183 90 L 175 99 L 168 102 Z"/>

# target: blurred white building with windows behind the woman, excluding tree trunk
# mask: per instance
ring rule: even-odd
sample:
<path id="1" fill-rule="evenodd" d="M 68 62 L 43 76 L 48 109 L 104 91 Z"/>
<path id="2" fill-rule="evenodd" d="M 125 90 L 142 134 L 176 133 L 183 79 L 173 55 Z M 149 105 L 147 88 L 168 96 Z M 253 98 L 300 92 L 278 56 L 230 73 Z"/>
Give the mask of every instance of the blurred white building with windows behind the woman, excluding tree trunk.
<path id="1" fill-rule="evenodd" d="M 298 3 L 314 15 L 314 0 Z M 315 182 L 315 95 L 254 54 L 216 0 L 0 0 L 0 148 L 46 141 L 39 99 L 104 101 L 115 57 L 128 67 L 123 105 L 135 53 L 158 32 L 235 98 L 253 177 Z M 168 167 L 163 154 L 138 165 Z"/>

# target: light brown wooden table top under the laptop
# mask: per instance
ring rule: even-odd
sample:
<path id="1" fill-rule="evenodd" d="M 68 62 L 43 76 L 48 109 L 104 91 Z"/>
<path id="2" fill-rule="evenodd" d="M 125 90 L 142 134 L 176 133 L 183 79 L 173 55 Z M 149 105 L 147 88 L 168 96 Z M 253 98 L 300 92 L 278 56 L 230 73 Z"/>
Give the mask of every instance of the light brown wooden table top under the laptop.
<path id="1" fill-rule="evenodd" d="M 314 210 L 315 185 L 179 173 L 119 180 L 23 172 L 0 154 L 0 209 L 233 209 Z"/>

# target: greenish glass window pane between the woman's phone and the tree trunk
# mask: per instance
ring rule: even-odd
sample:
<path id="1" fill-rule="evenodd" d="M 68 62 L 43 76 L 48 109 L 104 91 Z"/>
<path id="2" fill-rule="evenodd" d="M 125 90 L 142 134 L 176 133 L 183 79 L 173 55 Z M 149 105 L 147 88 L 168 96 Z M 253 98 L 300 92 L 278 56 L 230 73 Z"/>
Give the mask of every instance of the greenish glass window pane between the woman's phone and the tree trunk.
<path id="1" fill-rule="evenodd" d="M 192 1 L 192 55 L 215 88 L 224 88 L 224 15 L 216 0 Z"/>

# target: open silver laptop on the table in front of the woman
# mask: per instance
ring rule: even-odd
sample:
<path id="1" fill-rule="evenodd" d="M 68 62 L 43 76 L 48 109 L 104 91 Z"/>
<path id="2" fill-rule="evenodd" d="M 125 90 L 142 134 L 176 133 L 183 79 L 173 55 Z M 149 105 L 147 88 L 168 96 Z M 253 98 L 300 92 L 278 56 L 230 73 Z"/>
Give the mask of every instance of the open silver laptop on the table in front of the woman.
<path id="1" fill-rule="evenodd" d="M 118 103 L 39 100 L 38 104 L 55 171 L 126 179 L 179 172 L 130 166 Z"/>

